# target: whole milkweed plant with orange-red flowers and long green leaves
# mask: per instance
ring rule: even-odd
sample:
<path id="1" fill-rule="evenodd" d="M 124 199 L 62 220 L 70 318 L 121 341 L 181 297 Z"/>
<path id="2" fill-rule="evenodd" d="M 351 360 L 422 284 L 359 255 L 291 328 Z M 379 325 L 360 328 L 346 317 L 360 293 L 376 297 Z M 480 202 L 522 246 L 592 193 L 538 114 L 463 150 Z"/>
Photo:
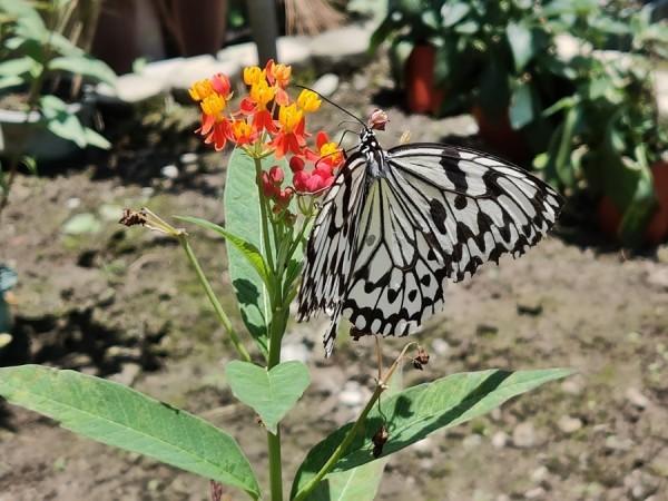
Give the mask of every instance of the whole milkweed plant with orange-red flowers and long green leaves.
<path id="1" fill-rule="evenodd" d="M 196 217 L 180 223 L 215 232 L 226 243 L 228 273 L 245 333 L 237 332 L 210 286 L 185 229 L 149 208 L 126 209 L 121 223 L 141 225 L 177 239 L 204 294 L 224 327 L 238 360 L 225 366 L 233 394 L 258 415 L 266 433 L 268 490 L 261 488 L 248 458 L 225 430 L 121 384 L 39 365 L 0 369 L 0 395 L 58 421 L 63 428 L 99 442 L 145 454 L 210 480 L 210 495 L 219 500 L 223 485 L 250 499 L 279 501 L 336 499 L 372 500 L 389 456 L 438 430 L 480 416 L 507 400 L 569 370 L 488 370 L 451 374 L 401 387 L 405 363 L 422 369 L 428 353 L 407 343 L 383 370 L 379 351 L 375 387 L 354 422 L 314 444 L 296 471 L 289 490 L 284 485 L 281 443 L 289 439 L 281 422 L 310 385 L 308 367 L 282 362 L 282 341 L 291 325 L 291 303 L 318 203 L 336 175 L 346 168 L 345 154 L 324 131 L 310 132 L 310 116 L 323 106 L 308 89 L 291 97 L 292 69 L 269 61 L 265 68 L 244 69 L 247 95 L 230 109 L 228 77 L 216 75 L 195 82 L 189 92 L 202 108 L 197 134 L 216 150 L 235 149 L 227 165 L 225 227 Z M 382 112 L 371 127 L 382 129 Z M 379 342 L 376 338 L 376 350 Z M 255 468 L 264 466 L 257 464 Z"/>

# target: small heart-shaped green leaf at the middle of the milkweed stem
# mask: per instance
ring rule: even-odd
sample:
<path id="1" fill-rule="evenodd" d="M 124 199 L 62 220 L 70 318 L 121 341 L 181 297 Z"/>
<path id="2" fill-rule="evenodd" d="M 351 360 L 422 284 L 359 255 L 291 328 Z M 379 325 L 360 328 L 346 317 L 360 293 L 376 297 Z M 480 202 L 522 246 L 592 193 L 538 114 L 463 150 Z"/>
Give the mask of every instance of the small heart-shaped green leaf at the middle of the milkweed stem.
<path id="1" fill-rule="evenodd" d="M 257 412 L 274 434 L 281 420 L 311 383 L 308 369 L 297 361 L 283 362 L 267 371 L 235 360 L 226 365 L 225 374 L 234 396 Z"/>

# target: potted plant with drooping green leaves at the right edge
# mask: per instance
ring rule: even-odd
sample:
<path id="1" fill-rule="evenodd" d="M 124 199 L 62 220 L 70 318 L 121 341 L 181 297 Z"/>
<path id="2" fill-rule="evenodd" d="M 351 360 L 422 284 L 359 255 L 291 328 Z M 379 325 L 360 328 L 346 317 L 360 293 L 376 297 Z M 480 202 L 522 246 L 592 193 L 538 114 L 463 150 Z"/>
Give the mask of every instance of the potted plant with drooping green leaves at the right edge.
<path id="1" fill-rule="evenodd" d="M 562 189 L 598 196 L 599 226 L 629 245 L 668 237 L 668 169 L 661 160 L 668 132 L 651 81 L 652 58 L 668 55 L 668 31 L 650 19 L 644 9 L 621 24 L 599 20 L 598 37 L 569 61 L 577 75 L 572 95 L 543 112 L 560 125 L 534 159 Z M 597 49 L 609 46 L 606 33 L 628 35 L 628 52 Z"/>

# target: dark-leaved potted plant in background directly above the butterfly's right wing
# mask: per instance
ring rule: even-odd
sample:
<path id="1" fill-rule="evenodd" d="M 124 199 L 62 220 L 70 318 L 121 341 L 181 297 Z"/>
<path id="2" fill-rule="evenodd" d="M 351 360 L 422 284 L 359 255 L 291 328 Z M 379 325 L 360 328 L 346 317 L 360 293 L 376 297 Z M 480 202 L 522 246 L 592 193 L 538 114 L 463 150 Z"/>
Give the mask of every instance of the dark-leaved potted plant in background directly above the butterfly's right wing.
<path id="1" fill-rule="evenodd" d="M 504 155 L 525 159 L 540 150 L 531 145 L 551 132 L 540 110 L 569 86 L 554 30 L 541 10 L 532 1 L 422 3 L 393 4 L 371 43 L 390 40 L 395 65 L 404 65 L 410 53 L 406 75 L 419 81 L 433 76 L 432 88 L 448 89 L 448 102 L 441 105 L 441 95 L 426 99 L 421 110 L 469 108 L 482 138 Z M 432 67 L 414 71 L 412 58 Z"/>

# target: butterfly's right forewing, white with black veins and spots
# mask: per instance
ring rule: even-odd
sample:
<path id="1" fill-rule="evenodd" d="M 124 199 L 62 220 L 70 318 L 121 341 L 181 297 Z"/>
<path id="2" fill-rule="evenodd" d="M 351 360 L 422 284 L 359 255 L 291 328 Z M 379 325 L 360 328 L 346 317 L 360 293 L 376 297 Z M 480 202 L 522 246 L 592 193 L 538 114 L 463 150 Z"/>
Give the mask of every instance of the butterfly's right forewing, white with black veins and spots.
<path id="1" fill-rule="evenodd" d="M 518 257 L 554 224 L 561 196 L 542 180 L 491 155 L 442 145 L 393 148 L 389 178 L 429 222 L 452 281 L 503 254 Z"/>

